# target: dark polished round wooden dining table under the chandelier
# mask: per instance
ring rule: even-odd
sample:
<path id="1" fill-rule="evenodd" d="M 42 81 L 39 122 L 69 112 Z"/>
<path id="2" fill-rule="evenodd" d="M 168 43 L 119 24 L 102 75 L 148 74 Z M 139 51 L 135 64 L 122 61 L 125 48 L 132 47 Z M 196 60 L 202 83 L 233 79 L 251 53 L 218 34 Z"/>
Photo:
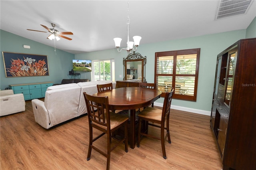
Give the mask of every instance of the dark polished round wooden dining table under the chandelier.
<path id="1" fill-rule="evenodd" d="M 130 133 L 128 140 L 130 147 L 133 149 L 136 142 L 135 119 L 136 111 L 142 107 L 151 105 L 154 101 L 160 98 L 161 91 L 156 89 L 148 89 L 142 87 L 122 87 L 111 91 L 103 91 L 95 93 L 94 96 L 108 96 L 110 110 L 130 110 Z"/>

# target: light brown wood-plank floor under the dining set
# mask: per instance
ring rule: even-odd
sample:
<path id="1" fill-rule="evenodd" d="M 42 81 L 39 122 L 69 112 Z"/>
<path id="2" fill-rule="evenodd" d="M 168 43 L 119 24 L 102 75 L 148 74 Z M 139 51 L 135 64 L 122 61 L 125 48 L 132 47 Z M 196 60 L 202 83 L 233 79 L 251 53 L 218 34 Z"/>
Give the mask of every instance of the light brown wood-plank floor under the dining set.
<path id="1" fill-rule="evenodd" d="M 172 143 L 166 141 L 166 160 L 162 157 L 160 140 L 143 137 L 140 148 L 129 147 L 126 153 L 121 145 L 113 150 L 110 169 L 221 170 L 210 117 L 177 110 L 171 112 Z M 1 117 L 0 123 L 1 170 L 106 169 L 106 158 L 95 150 L 92 150 L 91 159 L 86 160 L 87 116 L 44 129 L 34 120 L 31 101 L 26 101 L 25 112 Z M 155 127 L 149 130 L 159 134 Z M 104 136 L 98 145 L 106 148 L 105 141 Z"/>

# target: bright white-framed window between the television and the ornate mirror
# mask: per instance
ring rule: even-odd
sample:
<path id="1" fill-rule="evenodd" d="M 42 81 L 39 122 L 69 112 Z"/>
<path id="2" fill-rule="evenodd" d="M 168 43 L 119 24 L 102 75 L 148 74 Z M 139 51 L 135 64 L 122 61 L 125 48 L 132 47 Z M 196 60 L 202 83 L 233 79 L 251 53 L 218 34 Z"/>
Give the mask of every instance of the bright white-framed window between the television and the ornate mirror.
<path id="1" fill-rule="evenodd" d="M 114 59 L 93 60 L 92 80 L 112 80 L 115 81 L 115 61 Z"/>

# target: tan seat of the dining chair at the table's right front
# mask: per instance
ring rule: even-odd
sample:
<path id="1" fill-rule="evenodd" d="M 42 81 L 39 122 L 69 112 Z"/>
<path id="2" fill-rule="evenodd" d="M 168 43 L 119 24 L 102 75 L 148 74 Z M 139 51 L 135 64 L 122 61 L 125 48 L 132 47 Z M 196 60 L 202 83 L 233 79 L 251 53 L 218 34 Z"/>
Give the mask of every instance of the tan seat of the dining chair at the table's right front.
<path id="1" fill-rule="evenodd" d="M 155 107 L 146 107 L 143 111 L 138 114 L 139 117 L 151 119 L 161 122 L 162 110 Z"/>

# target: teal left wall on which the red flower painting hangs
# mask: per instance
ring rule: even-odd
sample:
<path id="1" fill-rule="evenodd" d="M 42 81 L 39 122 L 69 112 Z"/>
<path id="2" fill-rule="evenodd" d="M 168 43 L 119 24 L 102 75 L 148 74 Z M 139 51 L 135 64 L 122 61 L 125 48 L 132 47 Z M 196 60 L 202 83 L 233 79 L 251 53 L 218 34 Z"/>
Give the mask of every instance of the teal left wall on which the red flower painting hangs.
<path id="1" fill-rule="evenodd" d="M 56 49 L 56 54 L 53 47 L 38 43 L 10 32 L 0 30 L 0 89 L 5 89 L 9 85 L 25 84 L 25 83 L 41 83 L 52 81 L 61 83 L 62 79 L 68 79 L 68 71 L 72 69 L 72 59 L 75 55 Z M 53 43 L 53 42 L 52 42 Z M 30 45 L 30 49 L 26 49 L 23 45 Z M 2 51 L 26 54 L 47 55 L 49 65 L 49 76 L 34 76 L 34 77 L 8 77 L 4 72 L 4 63 Z"/>

